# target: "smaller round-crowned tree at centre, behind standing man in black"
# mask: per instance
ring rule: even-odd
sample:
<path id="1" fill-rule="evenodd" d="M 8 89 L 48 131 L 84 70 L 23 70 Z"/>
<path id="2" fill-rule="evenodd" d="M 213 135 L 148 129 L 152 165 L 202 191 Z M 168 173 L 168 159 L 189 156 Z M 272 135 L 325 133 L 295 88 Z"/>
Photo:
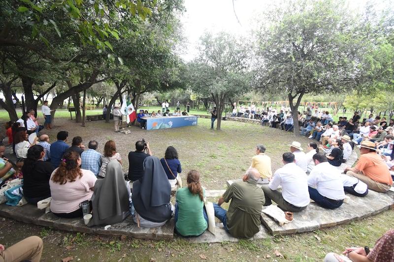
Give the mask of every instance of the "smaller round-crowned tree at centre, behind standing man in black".
<path id="1" fill-rule="evenodd" d="M 240 39 L 221 32 L 200 37 L 198 58 L 189 63 L 190 87 L 201 96 L 210 96 L 218 112 L 221 129 L 226 99 L 248 89 L 248 47 Z"/>

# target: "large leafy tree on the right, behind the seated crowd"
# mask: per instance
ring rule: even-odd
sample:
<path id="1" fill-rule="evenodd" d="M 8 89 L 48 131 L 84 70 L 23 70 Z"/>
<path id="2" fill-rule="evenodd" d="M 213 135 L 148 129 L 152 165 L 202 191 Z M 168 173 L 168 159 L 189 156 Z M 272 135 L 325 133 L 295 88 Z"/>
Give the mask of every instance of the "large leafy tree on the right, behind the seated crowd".
<path id="1" fill-rule="evenodd" d="M 352 81 L 355 71 L 346 42 L 352 23 L 346 10 L 342 1 L 287 1 L 269 10 L 263 16 L 268 22 L 256 31 L 256 87 L 288 94 L 295 135 L 304 94 L 340 92 Z"/>

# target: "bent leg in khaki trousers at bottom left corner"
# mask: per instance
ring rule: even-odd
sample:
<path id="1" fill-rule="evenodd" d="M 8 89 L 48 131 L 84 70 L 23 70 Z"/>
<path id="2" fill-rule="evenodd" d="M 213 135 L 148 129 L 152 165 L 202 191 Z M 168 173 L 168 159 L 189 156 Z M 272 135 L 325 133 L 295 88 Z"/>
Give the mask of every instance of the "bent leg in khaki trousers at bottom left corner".
<path id="1" fill-rule="evenodd" d="M 0 261 L 2 262 L 16 262 L 16 261 L 30 261 L 39 262 L 41 259 L 42 239 L 36 235 L 29 236 L 18 243 L 4 248 L 0 244 Z"/>

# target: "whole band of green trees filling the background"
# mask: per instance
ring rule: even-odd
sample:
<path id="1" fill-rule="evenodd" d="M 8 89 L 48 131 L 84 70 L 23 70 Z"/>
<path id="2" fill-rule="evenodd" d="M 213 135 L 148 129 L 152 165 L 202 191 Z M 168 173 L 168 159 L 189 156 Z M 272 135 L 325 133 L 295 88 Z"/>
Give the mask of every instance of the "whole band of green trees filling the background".
<path id="1" fill-rule="evenodd" d="M 391 1 L 358 12 L 342 0 L 274 1 L 247 36 L 207 30 L 190 61 L 185 11 L 182 0 L 1 1 L 0 106 L 16 120 L 17 93 L 35 110 L 48 95 L 52 109 L 86 95 L 100 108 L 123 94 L 136 108 L 201 101 L 218 107 L 218 129 L 238 100 L 289 100 L 295 117 L 306 99 L 393 111 Z"/>

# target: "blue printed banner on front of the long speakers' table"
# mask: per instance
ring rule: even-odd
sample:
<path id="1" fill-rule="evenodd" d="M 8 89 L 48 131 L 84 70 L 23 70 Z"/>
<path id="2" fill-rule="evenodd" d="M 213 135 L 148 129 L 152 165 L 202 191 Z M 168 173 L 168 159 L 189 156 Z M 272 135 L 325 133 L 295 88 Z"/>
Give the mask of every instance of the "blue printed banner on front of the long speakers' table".
<path id="1" fill-rule="evenodd" d="M 197 116 L 143 117 L 143 119 L 146 120 L 147 130 L 197 125 Z"/>

